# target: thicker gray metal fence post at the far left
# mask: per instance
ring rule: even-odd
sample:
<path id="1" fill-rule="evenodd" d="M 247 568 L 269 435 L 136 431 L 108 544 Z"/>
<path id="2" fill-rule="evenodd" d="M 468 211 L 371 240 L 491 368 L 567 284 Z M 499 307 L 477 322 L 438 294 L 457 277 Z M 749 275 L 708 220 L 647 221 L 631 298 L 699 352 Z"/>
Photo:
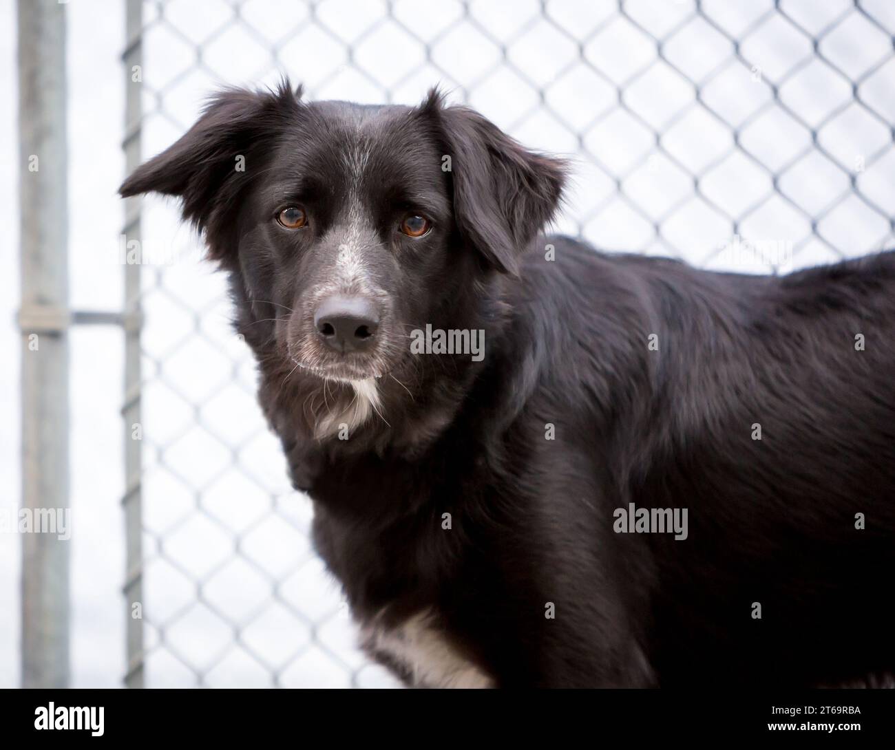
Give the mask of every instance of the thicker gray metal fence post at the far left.
<path id="1" fill-rule="evenodd" d="M 21 489 L 32 521 L 68 516 L 65 14 L 19 0 Z M 69 542 L 21 534 L 21 683 L 69 682 Z M 45 530 L 46 531 L 46 530 Z"/>

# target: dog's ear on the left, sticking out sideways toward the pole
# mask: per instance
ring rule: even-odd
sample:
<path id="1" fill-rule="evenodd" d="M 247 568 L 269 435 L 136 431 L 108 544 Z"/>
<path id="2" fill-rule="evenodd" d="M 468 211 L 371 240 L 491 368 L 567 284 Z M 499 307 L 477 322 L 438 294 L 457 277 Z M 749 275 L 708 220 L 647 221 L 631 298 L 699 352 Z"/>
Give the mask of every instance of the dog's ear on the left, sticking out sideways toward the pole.
<path id="1" fill-rule="evenodd" d="M 224 89 L 174 145 L 138 166 L 118 192 L 176 195 L 183 218 L 204 232 L 209 255 L 223 260 L 226 238 L 217 231 L 252 175 L 250 153 L 293 121 L 302 89 L 284 80 L 275 91 Z M 242 158 L 242 159 L 240 159 Z"/>

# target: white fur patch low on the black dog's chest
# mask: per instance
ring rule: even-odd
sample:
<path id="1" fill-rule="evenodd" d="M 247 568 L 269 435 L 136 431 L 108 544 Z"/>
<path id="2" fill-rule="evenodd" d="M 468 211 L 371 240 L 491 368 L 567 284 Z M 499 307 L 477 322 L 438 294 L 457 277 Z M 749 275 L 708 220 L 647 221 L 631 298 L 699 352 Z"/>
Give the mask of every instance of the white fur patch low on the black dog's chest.
<path id="1" fill-rule="evenodd" d="M 361 645 L 413 687 L 493 687 L 494 680 L 451 643 L 429 609 L 387 626 L 381 617 L 361 627 Z"/>

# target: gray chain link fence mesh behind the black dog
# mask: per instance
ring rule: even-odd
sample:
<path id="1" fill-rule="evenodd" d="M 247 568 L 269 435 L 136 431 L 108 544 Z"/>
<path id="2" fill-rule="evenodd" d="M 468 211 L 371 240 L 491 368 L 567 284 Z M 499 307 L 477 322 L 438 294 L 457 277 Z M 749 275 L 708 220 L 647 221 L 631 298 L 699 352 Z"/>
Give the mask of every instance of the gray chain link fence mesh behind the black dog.
<path id="1" fill-rule="evenodd" d="M 222 83 L 408 104 L 439 83 L 573 157 L 558 229 L 601 249 L 775 273 L 895 245 L 891 0 L 128 0 L 128 29 L 129 168 Z M 224 280 L 170 203 L 125 236 L 177 257 L 128 268 L 128 684 L 393 684 L 311 550 Z"/>

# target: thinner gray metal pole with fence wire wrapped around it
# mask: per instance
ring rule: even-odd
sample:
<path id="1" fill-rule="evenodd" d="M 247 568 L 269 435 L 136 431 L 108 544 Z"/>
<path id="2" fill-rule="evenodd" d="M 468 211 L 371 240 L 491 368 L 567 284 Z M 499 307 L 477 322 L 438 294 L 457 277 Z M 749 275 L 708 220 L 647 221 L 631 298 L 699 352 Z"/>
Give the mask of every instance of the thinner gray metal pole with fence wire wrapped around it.
<path id="1" fill-rule="evenodd" d="M 142 128 L 142 0 L 127 0 L 124 47 L 124 168 L 128 175 L 141 160 Z M 124 203 L 124 236 L 127 242 L 141 241 L 140 196 Z M 135 425 L 141 425 L 141 301 L 140 264 L 124 266 L 124 533 L 127 574 L 124 598 L 127 607 L 127 671 L 124 685 L 143 686 L 143 546 L 142 546 L 142 458 Z"/>

